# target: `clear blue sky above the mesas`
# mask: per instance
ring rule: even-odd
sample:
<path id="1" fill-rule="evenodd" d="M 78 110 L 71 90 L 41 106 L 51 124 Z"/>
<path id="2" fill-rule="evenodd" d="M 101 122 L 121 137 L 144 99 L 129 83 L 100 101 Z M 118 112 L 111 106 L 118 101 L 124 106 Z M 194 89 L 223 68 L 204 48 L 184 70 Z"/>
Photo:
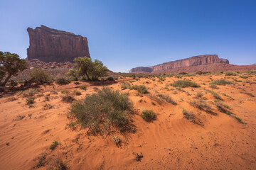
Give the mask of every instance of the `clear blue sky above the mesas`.
<path id="1" fill-rule="evenodd" d="M 0 0 L 0 50 L 26 58 L 26 28 L 48 26 L 87 37 L 92 59 L 114 72 L 195 55 L 256 63 L 252 0 Z"/>

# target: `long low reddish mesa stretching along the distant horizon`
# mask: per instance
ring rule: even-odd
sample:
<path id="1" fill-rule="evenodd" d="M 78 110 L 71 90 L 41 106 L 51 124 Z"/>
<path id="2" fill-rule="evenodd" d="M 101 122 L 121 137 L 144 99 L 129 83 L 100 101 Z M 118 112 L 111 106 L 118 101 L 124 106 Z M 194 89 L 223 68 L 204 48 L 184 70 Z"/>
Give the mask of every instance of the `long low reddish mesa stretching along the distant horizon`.
<path id="1" fill-rule="evenodd" d="M 206 65 L 213 63 L 226 63 L 229 64 L 228 60 L 220 59 L 218 55 L 198 55 L 189 57 L 183 60 L 176 60 L 174 62 L 165 62 L 152 67 L 135 67 L 130 72 L 159 72 L 168 69 L 176 69 L 181 67 L 190 67 L 198 65 Z"/>

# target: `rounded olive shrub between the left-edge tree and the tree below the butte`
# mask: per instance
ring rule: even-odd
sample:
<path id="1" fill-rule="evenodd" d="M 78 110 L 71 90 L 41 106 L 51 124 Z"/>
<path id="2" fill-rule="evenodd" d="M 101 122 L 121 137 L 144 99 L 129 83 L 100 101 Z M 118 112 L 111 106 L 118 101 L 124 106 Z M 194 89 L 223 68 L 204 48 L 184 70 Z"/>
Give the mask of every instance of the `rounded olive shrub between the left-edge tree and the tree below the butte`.
<path id="1" fill-rule="evenodd" d="M 41 68 L 35 68 L 30 73 L 31 79 L 36 80 L 38 83 L 41 84 L 48 84 L 53 81 L 53 77 L 50 76 L 50 74 L 47 74 L 43 69 Z"/>

